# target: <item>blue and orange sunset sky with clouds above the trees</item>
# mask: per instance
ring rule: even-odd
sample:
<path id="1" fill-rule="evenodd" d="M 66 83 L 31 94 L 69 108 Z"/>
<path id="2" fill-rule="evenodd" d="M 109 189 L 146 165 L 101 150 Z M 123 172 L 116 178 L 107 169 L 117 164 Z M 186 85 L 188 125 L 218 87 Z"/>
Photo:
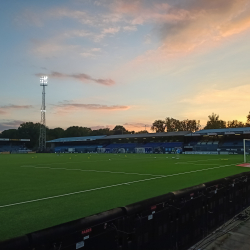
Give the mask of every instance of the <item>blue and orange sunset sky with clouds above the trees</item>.
<path id="1" fill-rule="evenodd" d="M 42 75 L 49 128 L 250 111 L 249 0 L 2 0 L 0 34 L 0 131 L 40 122 Z"/>

